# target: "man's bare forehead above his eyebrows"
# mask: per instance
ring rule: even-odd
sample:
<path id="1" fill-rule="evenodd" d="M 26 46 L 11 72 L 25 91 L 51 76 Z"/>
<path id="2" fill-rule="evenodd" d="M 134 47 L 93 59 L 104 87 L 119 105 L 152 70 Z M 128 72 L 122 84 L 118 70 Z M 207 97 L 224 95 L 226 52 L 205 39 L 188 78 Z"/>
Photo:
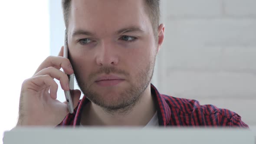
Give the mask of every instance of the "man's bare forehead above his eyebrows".
<path id="1" fill-rule="evenodd" d="M 69 29 L 114 30 L 125 26 L 146 29 L 150 23 L 144 0 L 72 0 Z"/>

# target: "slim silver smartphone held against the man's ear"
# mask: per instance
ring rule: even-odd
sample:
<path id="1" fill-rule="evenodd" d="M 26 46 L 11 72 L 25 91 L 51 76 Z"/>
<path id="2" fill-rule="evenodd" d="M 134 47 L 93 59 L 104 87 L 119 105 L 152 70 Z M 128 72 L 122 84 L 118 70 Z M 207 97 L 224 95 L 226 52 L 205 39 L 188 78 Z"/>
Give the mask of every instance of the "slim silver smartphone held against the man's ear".
<path id="1" fill-rule="evenodd" d="M 67 36 L 68 36 L 67 31 L 65 29 L 63 57 L 68 59 L 69 51 L 68 51 L 68 37 Z M 65 93 L 69 113 L 72 114 L 74 112 L 74 106 L 73 106 L 72 98 L 71 98 L 71 95 L 70 95 L 70 90 L 74 89 L 74 74 L 68 75 L 68 78 L 69 78 L 69 91 L 64 91 L 64 93 Z"/>

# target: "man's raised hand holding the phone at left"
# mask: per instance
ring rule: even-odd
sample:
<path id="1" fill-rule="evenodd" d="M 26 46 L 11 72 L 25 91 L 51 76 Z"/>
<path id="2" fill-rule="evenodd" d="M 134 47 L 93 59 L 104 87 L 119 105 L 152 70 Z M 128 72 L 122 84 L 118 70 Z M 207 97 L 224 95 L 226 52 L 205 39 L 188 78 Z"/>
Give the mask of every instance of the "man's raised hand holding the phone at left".
<path id="1" fill-rule="evenodd" d="M 67 104 L 56 100 L 58 85 L 53 79 L 58 79 L 62 89 L 69 91 L 68 76 L 59 70 L 60 68 L 69 75 L 73 73 L 69 59 L 63 58 L 63 46 L 59 56 L 49 56 L 46 58 L 35 74 L 23 82 L 17 126 L 56 126 L 69 113 Z M 71 95 L 75 108 L 81 92 L 79 90 L 72 90 Z"/>

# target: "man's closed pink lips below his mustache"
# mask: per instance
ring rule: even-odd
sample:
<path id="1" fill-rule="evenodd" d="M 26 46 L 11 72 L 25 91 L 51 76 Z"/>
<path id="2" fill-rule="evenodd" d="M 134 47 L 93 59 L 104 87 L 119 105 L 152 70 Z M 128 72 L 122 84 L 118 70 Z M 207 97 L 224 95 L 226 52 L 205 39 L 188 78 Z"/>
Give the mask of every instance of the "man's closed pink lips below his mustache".
<path id="1" fill-rule="evenodd" d="M 119 83 L 121 83 L 123 81 L 125 81 L 125 79 L 122 79 L 115 75 L 102 75 L 102 76 L 98 77 L 98 79 L 95 82 L 99 86 L 106 87 L 106 86 L 118 85 Z"/>

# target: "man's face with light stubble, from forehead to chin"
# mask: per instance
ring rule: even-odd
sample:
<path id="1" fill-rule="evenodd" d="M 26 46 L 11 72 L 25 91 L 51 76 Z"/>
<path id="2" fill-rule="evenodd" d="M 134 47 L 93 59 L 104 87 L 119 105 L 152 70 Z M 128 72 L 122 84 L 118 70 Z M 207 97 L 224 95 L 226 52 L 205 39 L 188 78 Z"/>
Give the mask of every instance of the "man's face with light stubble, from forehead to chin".
<path id="1" fill-rule="evenodd" d="M 143 0 L 72 0 L 69 55 L 79 87 L 107 110 L 127 108 L 150 85 L 157 45 Z"/>

